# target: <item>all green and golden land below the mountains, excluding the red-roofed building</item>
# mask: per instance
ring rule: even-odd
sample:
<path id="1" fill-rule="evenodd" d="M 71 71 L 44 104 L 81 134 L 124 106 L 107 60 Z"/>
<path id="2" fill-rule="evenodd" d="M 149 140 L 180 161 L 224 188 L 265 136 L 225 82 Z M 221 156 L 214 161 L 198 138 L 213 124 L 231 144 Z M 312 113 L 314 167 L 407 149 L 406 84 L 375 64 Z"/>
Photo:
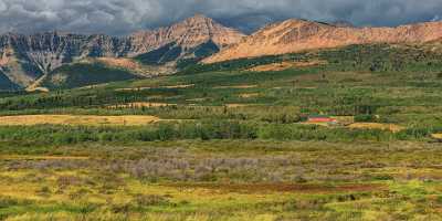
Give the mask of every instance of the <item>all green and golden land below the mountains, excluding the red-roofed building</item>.
<path id="1" fill-rule="evenodd" d="M 441 88 L 382 44 L 2 93 L 0 220 L 442 220 Z"/>

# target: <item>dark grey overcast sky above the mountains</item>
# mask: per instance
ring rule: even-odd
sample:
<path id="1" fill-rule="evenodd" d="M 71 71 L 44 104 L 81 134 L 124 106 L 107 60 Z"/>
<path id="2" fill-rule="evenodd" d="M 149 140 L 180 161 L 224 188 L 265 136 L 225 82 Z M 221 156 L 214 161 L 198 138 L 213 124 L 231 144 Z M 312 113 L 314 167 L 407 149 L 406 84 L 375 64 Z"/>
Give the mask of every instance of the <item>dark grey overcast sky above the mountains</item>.
<path id="1" fill-rule="evenodd" d="M 194 13 L 253 30 L 287 18 L 398 25 L 442 19 L 442 0 L 0 0 L 0 32 L 123 35 Z"/>

